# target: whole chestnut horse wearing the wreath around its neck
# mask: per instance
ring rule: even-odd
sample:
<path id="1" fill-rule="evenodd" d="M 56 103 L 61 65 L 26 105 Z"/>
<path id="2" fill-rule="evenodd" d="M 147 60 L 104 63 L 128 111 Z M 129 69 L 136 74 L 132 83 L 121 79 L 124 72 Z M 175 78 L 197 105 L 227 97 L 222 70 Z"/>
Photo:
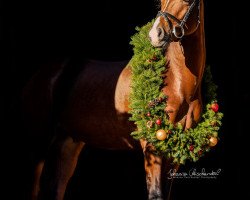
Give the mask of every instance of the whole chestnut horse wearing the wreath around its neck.
<path id="1" fill-rule="evenodd" d="M 165 49 L 168 60 L 163 91 L 169 97 L 166 111 L 170 121 L 182 123 L 185 129 L 195 126 L 202 109 L 201 80 L 206 55 L 203 1 L 161 0 L 161 11 L 149 38 L 154 47 Z M 54 122 L 56 136 L 48 157 L 36 169 L 33 199 L 63 200 L 85 144 L 114 150 L 143 150 L 148 199 L 166 198 L 168 191 L 163 189 L 166 170 L 178 166 L 153 154 L 154 147 L 147 141 L 135 141 L 130 136 L 134 125 L 128 120 L 131 90 L 128 62 L 87 60 L 82 65 L 72 87 L 68 87 L 60 115 Z M 54 91 L 60 85 L 64 69 L 64 66 L 54 66 L 41 70 L 24 88 L 24 109 L 33 122 L 39 114 L 43 119 L 48 117 L 46 113 L 54 106 Z M 42 93 L 34 99 L 36 91 L 46 95 Z M 36 112 L 38 101 L 46 104 L 47 110 Z M 40 122 L 40 126 L 45 125 Z M 40 134 L 44 134 L 43 131 Z"/>

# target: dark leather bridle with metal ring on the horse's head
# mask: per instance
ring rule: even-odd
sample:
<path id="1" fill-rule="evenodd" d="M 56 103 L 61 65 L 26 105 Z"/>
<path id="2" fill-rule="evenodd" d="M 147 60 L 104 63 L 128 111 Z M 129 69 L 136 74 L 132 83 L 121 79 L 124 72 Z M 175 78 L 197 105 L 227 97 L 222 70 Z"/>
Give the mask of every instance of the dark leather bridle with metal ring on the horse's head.
<path id="1" fill-rule="evenodd" d="M 163 16 L 163 18 L 165 19 L 165 21 L 168 23 L 168 26 L 170 27 L 171 32 L 173 33 L 173 35 L 176 37 L 176 39 L 180 40 L 183 38 L 183 36 L 185 35 L 185 30 L 184 30 L 184 25 L 187 22 L 194 6 L 198 4 L 198 23 L 197 23 L 197 27 L 200 24 L 200 0 L 194 0 L 193 3 L 189 6 L 188 11 L 186 12 L 186 14 L 184 15 L 182 20 L 177 19 L 175 16 L 173 16 L 172 14 L 170 14 L 169 12 L 166 11 L 159 11 L 157 14 L 157 17 L 159 16 Z M 176 21 L 177 25 L 173 27 L 170 19 Z M 178 31 L 178 29 L 180 31 Z"/>

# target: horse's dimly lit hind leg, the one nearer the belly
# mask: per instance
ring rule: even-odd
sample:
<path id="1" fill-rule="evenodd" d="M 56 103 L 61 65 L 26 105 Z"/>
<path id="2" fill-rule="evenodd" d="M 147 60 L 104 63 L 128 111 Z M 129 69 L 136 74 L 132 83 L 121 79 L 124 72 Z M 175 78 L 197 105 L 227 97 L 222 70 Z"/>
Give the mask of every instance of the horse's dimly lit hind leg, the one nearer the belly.
<path id="1" fill-rule="evenodd" d="M 39 200 L 63 200 L 83 146 L 83 142 L 74 141 L 69 136 L 61 136 L 54 141 L 44 163 Z"/>

